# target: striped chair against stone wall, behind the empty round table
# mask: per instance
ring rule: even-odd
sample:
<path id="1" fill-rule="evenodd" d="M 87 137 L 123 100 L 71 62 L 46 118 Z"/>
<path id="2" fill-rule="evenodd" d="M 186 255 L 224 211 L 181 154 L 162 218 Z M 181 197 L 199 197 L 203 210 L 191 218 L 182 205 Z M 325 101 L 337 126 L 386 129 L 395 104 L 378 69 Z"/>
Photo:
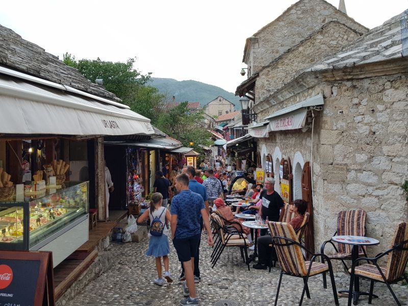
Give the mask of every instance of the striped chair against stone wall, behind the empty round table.
<path id="1" fill-rule="evenodd" d="M 356 209 L 340 211 L 337 216 L 337 231 L 333 236 L 365 236 L 365 224 L 366 212 L 364 210 Z M 333 241 L 329 239 L 327 241 L 324 241 L 320 246 L 320 253 L 324 254 L 324 248 L 327 244 L 331 244 L 335 249 L 335 253 L 327 254 L 328 258 L 332 260 L 341 260 L 344 268 L 346 269 L 346 271 L 348 271 L 349 268 L 344 261 L 351 261 L 352 245 L 338 243 L 336 247 L 335 243 L 333 243 Z M 367 257 L 365 246 L 359 248 L 359 257 L 361 256 Z M 324 260 L 322 262 L 324 263 Z M 323 287 L 326 288 L 326 286 L 326 273 L 323 273 Z"/>

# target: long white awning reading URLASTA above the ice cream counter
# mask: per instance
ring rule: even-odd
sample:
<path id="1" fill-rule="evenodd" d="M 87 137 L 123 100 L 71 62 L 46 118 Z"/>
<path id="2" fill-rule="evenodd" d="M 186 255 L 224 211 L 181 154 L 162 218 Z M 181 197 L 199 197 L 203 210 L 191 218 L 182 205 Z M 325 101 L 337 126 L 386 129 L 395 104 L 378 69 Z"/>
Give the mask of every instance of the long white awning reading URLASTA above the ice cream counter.
<path id="1" fill-rule="evenodd" d="M 154 134 L 148 118 L 124 105 L 3 76 L 0 110 L 0 133 L 4 134 Z"/>

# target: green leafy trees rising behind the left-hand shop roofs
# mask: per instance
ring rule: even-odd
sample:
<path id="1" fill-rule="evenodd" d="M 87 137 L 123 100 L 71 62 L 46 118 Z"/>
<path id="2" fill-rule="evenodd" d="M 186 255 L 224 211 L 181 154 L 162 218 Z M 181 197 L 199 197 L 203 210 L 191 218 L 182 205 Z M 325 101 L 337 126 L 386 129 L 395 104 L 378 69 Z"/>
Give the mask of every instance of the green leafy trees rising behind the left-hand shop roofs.
<path id="1" fill-rule="evenodd" d="M 125 63 L 106 62 L 99 58 L 77 61 L 74 56 L 65 53 L 63 62 L 77 68 L 93 83 L 95 79 L 103 79 L 106 90 L 121 98 L 132 111 L 149 118 L 151 124 L 181 141 L 184 146 L 189 146 L 192 141 L 194 149 L 202 153 L 203 149 L 198 144 L 211 145 L 210 133 L 198 124 L 204 119 L 204 111 L 201 109 L 190 113 L 187 101 L 174 108 L 168 108 L 166 95 L 146 84 L 150 79 L 150 73 L 143 75 L 133 69 L 135 59 L 129 59 Z"/>

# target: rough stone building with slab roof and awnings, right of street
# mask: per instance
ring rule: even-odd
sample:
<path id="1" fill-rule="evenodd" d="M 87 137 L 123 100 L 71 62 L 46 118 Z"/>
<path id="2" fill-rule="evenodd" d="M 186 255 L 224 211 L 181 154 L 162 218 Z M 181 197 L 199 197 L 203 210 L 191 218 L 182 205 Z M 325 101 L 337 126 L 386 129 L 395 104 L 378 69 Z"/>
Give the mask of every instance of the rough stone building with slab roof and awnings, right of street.
<path id="1" fill-rule="evenodd" d="M 361 208 L 367 212 L 367 235 L 380 241 L 369 249 L 376 254 L 388 248 L 396 224 L 408 218 L 400 188 L 408 178 L 408 61 L 401 44 L 405 15 L 360 37 L 364 27 L 344 13 L 321 0 L 301 0 L 267 25 L 275 27 L 268 31 L 270 41 L 282 46 L 278 26 L 285 28 L 289 20 L 286 31 L 291 32 L 291 15 L 312 4 L 326 8 L 318 11 L 325 23 L 311 26 L 307 35 L 301 32 L 298 41 L 291 37 L 291 46 L 285 42 L 275 54 L 269 50 L 261 56 L 253 39 L 247 40 L 244 60 L 252 65 L 252 75 L 237 94 L 254 100 L 257 122 L 249 129 L 260 132 L 251 135 L 262 135 L 254 136 L 259 163 L 263 168 L 271 163 L 276 191 L 282 193 L 279 178 L 285 175 L 291 200 L 306 199 L 304 191 L 310 189 L 314 246 L 336 231 L 339 211 Z M 323 22 L 317 15 L 315 20 Z M 265 45 L 266 40 L 267 35 Z M 273 58 L 265 63 L 263 56 Z"/>

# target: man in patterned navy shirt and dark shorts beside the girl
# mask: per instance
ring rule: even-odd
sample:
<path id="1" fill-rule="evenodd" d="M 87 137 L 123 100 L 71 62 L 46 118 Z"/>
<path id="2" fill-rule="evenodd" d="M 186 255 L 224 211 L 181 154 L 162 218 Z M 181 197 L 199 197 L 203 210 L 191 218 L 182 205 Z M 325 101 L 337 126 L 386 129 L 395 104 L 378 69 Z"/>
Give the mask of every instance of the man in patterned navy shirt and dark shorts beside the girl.
<path id="1" fill-rule="evenodd" d="M 193 171 L 192 176 L 195 174 L 194 168 Z M 179 194 L 173 197 L 171 203 L 171 239 L 177 257 L 183 263 L 187 283 L 183 283 L 183 294 L 187 298 L 181 300 L 180 304 L 198 305 L 194 284 L 194 257 L 201 236 L 200 220 L 203 220 L 208 233 L 211 233 L 211 228 L 204 200 L 201 195 L 189 189 L 189 182 L 186 173 L 176 176 L 175 187 Z M 211 234 L 208 235 L 207 242 L 214 245 Z"/>

